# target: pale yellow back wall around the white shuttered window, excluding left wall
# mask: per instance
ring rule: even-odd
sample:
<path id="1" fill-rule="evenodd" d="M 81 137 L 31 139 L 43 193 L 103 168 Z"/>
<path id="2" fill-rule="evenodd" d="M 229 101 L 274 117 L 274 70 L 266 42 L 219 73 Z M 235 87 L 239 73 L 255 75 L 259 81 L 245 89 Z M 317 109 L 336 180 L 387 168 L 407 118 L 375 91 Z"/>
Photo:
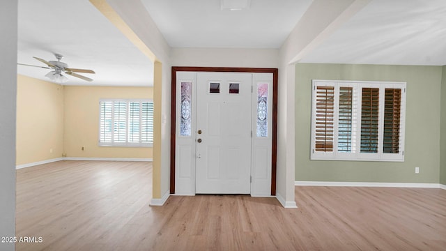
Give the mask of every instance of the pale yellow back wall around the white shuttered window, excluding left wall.
<path id="1" fill-rule="evenodd" d="M 99 100 L 102 98 L 153 98 L 153 88 L 65 86 L 63 149 L 66 157 L 152 158 L 151 147 L 98 146 Z"/>

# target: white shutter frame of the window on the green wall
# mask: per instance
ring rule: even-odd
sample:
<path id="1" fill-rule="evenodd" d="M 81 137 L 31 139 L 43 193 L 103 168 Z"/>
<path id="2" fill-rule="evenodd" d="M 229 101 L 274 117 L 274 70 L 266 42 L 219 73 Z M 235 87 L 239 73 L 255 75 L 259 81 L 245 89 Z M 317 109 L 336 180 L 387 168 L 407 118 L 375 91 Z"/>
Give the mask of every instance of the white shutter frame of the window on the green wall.
<path id="1" fill-rule="evenodd" d="M 316 151 L 316 87 L 333 86 L 334 87 L 334 109 L 333 109 L 333 139 L 332 151 Z M 404 161 L 404 142 L 405 142 L 405 121 L 406 121 L 406 82 L 376 82 L 376 81 L 344 81 L 344 80 L 312 80 L 312 108 L 311 108 L 311 146 L 310 160 L 356 160 L 356 161 Z M 353 87 L 352 102 L 355 104 L 352 108 L 353 119 L 356 126 L 352 130 L 352 138 L 355 138 L 352 149 L 355 152 L 339 152 L 339 90 L 341 87 Z M 361 152 L 361 118 L 362 118 L 362 89 L 378 88 L 378 151 L 376 153 Z M 401 89 L 401 102 L 399 106 L 399 152 L 384 153 L 383 135 L 384 135 L 384 108 L 385 108 L 385 89 Z M 327 137 L 325 135 L 325 137 Z M 353 140 L 353 139 L 352 139 Z"/>

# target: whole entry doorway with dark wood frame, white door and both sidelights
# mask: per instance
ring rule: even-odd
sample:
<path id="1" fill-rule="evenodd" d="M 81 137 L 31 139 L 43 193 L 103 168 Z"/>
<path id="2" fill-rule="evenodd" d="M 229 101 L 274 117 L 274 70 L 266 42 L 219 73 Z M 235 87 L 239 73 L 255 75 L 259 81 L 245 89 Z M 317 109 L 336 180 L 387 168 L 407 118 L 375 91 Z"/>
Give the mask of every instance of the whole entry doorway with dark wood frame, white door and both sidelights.
<path id="1" fill-rule="evenodd" d="M 276 90 L 277 69 L 172 68 L 171 193 L 275 195 Z"/>

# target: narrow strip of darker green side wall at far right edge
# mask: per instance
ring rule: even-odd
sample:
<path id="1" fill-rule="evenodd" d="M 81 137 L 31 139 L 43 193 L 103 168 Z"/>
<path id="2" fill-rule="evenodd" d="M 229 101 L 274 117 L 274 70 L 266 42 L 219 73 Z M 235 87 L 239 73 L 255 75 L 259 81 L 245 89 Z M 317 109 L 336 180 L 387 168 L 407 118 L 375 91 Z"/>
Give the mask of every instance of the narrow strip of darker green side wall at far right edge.
<path id="1" fill-rule="evenodd" d="M 440 128 L 440 183 L 446 185 L 446 66 L 443 66 L 441 82 L 441 128 Z"/>

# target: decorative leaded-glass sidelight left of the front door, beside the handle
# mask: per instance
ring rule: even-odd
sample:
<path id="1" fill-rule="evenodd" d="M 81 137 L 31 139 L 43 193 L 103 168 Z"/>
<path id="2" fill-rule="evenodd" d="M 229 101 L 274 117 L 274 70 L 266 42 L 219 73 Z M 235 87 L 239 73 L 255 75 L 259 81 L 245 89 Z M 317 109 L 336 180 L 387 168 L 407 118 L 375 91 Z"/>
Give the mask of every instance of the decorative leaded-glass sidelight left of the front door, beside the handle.
<path id="1" fill-rule="evenodd" d="M 192 82 L 181 82 L 180 135 L 190 136 L 192 128 Z"/>

